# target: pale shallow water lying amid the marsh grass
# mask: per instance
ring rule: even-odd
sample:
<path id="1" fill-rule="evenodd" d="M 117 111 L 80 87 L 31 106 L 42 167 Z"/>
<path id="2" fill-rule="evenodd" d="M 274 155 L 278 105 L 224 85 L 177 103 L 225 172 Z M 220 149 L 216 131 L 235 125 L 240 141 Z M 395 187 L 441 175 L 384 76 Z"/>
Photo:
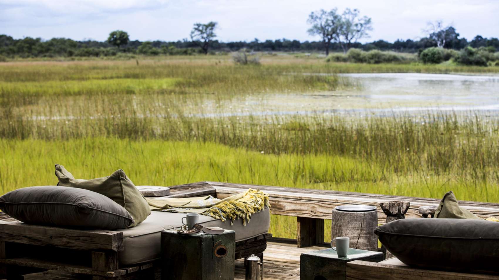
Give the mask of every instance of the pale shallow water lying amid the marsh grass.
<path id="1" fill-rule="evenodd" d="M 314 74 L 308 74 L 314 75 Z M 317 74 L 321 75 L 321 74 Z M 225 103 L 224 113 L 206 116 L 483 112 L 499 115 L 499 75 L 422 73 L 340 74 L 357 88 L 320 93 L 250 95 Z"/>

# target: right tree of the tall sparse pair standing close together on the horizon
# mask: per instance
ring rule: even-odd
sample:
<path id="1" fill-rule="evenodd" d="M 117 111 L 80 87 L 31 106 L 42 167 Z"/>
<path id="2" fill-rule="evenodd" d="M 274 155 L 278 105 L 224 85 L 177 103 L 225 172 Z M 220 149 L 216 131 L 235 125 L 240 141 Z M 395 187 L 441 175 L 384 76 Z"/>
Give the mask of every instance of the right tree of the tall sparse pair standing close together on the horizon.
<path id="1" fill-rule="evenodd" d="M 341 15 L 338 42 L 341 44 L 343 53 L 350 49 L 352 42 L 361 38 L 369 38 L 368 31 L 373 30 L 371 18 L 360 17 L 358 9 L 346 8 Z"/>

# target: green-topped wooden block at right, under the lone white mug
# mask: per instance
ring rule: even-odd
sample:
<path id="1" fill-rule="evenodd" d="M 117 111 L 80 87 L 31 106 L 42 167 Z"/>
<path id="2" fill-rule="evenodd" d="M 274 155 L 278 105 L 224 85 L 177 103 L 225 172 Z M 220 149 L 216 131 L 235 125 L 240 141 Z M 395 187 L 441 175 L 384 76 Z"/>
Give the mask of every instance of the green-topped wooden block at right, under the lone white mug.
<path id="1" fill-rule="evenodd" d="M 349 248 L 347 257 L 338 257 L 332 249 L 312 251 L 300 256 L 300 280 L 344 280 L 346 263 L 361 260 L 383 261 L 383 253 Z"/>

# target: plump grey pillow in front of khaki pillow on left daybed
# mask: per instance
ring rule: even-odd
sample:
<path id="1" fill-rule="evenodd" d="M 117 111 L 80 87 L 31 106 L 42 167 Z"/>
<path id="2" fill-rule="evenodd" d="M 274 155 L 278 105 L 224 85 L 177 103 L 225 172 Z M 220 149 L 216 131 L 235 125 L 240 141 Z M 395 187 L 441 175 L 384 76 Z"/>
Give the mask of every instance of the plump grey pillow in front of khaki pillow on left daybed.
<path id="1" fill-rule="evenodd" d="M 61 186 L 16 189 L 0 197 L 0 209 L 21 222 L 118 230 L 133 223 L 118 203 L 93 191 Z"/>

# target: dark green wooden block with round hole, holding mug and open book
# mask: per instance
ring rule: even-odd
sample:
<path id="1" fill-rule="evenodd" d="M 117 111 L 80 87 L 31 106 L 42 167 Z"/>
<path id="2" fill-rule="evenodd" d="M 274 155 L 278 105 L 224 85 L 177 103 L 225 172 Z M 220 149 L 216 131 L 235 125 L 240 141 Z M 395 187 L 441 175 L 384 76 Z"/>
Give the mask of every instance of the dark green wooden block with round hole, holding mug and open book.
<path id="1" fill-rule="evenodd" d="M 161 232 L 162 280 L 234 280 L 236 234 Z"/>

